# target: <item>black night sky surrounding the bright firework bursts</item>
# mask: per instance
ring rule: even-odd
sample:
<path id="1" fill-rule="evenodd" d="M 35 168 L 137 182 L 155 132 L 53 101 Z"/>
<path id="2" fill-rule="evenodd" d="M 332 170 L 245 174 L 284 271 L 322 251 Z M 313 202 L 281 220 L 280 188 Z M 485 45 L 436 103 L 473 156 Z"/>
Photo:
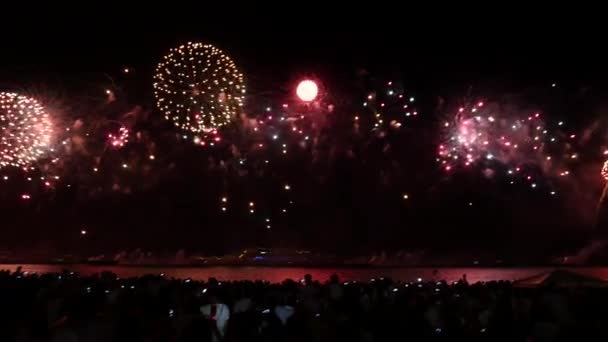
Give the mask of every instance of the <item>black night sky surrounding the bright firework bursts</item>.
<path id="1" fill-rule="evenodd" d="M 351 19 L 320 8 L 228 15 L 203 4 L 151 7 L 5 12 L 15 17 L 0 24 L 0 90 L 39 99 L 56 116 L 58 130 L 80 120 L 90 135 L 82 151 L 58 157 L 61 167 L 53 175 L 61 180 L 50 188 L 28 184 L 18 170 L 0 170 L 10 175 L 0 183 L 2 246 L 509 251 L 584 244 L 601 235 L 602 220 L 593 226 L 608 147 L 608 52 L 592 18 L 581 16 L 586 23 L 575 25 L 524 11 L 505 12 L 504 19 L 412 11 Z M 322 110 L 311 115 L 324 117 L 318 145 L 299 148 L 286 140 L 287 156 L 275 147 L 265 155 L 247 153 L 251 142 L 242 118 L 222 133 L 221 146 L 181 139 L 157 109 L 152 83 L 162 56 L 188 41 L 213 44 L 232 57 L 244 74 L 249 119 L 266 116 L 266 107 L 275 112 L 296 103 L 297 83 L 316 80 Z M 398 133 L 362 123 L 364 133 L 353 135 L 353 117 L 372 115 L 362 108 L 368 94 L 386 95 L 390 81 L 416 98 L 418 117 L 404 121 Z M 115 98 L 109 100 L 108 89 Z M 504 176 L 511 164 L 501 161 L 491 164 L 491 173 L 483 162 L 446 175 L 436 160 L 442 124 L 477 101 L 497 104 L 505 115 L 541 112 L 547 126 L 565 121 L 567 128 L 559 129 L 577 136 L 570 144 L 580 154 L 570 169 L 573 180 L 556 181 L 539 167 L 538 188 L 512 185 Z M 104 152 L 99 141 L 115 129 L 104 123 L 126 124 L 125 113 L 135 113 L 129 128 L 145 138 Z M 144 165 L 152 145 L 149 169 L 122 170 L 123 163 Z M 264 160 L 271 166 L 256 164 Z M 91 176 L 95 163 L 101 170 Z M 217 167 L 221 163 L 230 171 Z M 24 193 L 32 198 L 24 201 Z"/>

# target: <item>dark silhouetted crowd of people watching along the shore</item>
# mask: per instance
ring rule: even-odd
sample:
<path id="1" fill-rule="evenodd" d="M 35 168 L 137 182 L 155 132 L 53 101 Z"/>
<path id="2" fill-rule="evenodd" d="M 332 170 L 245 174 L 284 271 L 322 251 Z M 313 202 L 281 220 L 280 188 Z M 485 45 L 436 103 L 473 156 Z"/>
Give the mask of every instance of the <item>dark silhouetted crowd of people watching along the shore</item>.
<path id="1" fill-rule="evenodd" d="M 608 291 L 0 273 L 0 341 L 606 341 Z"/>

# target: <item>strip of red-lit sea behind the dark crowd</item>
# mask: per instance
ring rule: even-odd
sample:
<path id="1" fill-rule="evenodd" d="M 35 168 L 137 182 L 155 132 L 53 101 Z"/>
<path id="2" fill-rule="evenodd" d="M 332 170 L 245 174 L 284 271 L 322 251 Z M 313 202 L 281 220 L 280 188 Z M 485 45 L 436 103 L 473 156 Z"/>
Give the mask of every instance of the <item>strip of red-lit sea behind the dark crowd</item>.
<path id="1" fill-rule="evenodd" d="M 146 274 L 163 274 L 168 278 L 207 280 L 214 277 L 220 281 L 230 280 L 265 280 L 281 282 L 285 279 L 300 280 L 306 274 L 313 279 L 325 281 L 332 274 L 337 274 L 342 281 L 370 281 L 388 277 L 399 281 L 457 281 L 466 275 L 469 283 L 478 281 L 509 280 L 517 281 L 551 272 L 557 269 L 570 270 L 586 276 L 608 281 L 608 267 L 505 267 L 505 268 L 429 268 L 429 267 L 237 267 L 237 266 L 126 266 L 126 265 L 49 265 L 49 264 L 0 264 L 0 269 L 15 271 L 22 267 L 22 272 L 56 273 L 63 270 L 77 272 L 81 275 L 92 275 L 110 271 L 119 277 L 128 278 Z"/>

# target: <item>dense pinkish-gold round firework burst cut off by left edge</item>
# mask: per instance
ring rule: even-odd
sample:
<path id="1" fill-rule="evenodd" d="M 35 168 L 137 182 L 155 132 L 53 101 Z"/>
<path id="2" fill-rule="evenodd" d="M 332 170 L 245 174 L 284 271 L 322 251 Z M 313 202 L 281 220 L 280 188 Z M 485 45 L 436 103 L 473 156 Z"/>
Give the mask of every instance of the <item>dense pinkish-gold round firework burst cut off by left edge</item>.
<path id="1" fill-rule="evenodd" d="M 53 132 L 44 107 L 35 99 L 0 93 L 0 167 L 25 167 L 48 149 Z"/>

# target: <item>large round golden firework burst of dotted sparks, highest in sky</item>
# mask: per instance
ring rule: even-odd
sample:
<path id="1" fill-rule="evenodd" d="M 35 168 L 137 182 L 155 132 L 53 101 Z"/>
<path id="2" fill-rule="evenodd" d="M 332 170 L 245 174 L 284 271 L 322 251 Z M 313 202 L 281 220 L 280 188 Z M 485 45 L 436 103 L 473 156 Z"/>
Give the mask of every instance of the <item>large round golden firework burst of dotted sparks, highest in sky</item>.
<path id="1" fill-rule="evenodd" d="M 156 103 L 165 118 L 190 133 L 228 124 L 243 106 L 243 74 L 222 50 L 202 43 L 171 49 L 156 67 Z"/>

